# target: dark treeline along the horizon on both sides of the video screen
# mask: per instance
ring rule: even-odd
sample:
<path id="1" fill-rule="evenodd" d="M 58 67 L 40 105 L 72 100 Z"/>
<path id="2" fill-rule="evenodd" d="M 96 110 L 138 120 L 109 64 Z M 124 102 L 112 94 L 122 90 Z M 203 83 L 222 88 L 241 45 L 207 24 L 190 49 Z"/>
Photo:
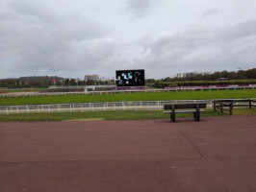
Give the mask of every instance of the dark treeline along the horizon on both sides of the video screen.
<path id="1" fill-rule="evenodd" d="M 218 79 L 224 78 L 227 81 L 220 82 Z M 237 72 L 220 71 L 213 74 L 201 75 L 196 74 L 192 77 L 185 78 L 170 78 L 167 77 L 162 80 L 147 79 L 145 83 L 147 86 L 165 87 L 169 85 L 185 86 L 185 85 L 215 85 L 215 84 L 256 84 L 256 68 L 248 70 L 239 70 Z M 237 82 L 236 82 L 237 80 Z M 243 81 L 243 82 L 241 82 Z M 115 84 L 115 80 L 109 81 L 85 81 L 79 79 L 64 79 L 57 76 L 34 76 L 22 77 L 19 79 L 5 79 L 0 80 L 0 87 L 7 88 L 45 88 L 49 86 L 68 86 L 68 85 L 94 85 L 94 84 Z"/>

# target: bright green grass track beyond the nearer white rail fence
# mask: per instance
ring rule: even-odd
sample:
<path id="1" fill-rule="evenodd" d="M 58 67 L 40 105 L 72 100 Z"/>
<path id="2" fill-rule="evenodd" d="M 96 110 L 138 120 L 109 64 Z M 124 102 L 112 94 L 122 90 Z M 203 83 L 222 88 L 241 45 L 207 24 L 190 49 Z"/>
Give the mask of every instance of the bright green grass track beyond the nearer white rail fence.
<path id="1" fill-rule="evenodd" d="M 165 100 L 207 100 L 256 98 L 256 89 L 240 90 L 205 90 L 205 91 L 170 91 L 156 93 L 109 93 L 65 96 L 25 96 L 1 97 L 0 105 L 64 104 L 122 101 L 165 101 Z"/>

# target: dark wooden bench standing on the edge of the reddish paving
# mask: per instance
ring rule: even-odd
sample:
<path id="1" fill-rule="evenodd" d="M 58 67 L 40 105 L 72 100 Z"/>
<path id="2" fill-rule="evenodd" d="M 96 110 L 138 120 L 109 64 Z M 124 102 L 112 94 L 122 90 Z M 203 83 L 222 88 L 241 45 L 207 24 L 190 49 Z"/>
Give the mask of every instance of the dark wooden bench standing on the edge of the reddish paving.
<path id="1" fill-rule="evenodd" d="M 169 104 L 164 105 L 164 113 L 170 114 L 170 120 L 175 122 L 176 113 L 193 113 L 194 121 L 200 121 L 200 113 L 204 112 L 201 108 L 206 108 L 206 104 Z M 178 110 L 176 110 L 178 109 Z"/>

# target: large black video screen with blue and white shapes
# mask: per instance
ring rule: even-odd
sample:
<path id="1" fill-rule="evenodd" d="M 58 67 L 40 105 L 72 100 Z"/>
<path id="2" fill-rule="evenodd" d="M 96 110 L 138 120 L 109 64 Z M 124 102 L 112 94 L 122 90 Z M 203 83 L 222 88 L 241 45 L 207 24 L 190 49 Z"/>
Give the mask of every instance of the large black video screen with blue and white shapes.
<path id="1" fill-rule="evenodd" d="M 144 69 L 138 70 L 117 70 L 116 85 L 117 86 L 144 86 L 145 75 Z"/>

